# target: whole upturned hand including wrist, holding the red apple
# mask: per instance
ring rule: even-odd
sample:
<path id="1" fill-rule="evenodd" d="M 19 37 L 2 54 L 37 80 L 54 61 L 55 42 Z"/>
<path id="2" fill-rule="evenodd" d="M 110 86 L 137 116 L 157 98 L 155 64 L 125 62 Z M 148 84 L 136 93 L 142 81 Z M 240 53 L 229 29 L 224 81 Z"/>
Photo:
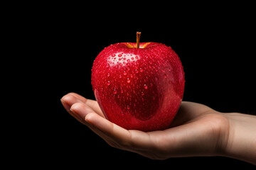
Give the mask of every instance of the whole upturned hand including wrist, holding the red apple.
<path id="1" fill-rule="evenodd" d="M 64 108 L 110 146 L 150 159 L 224 156 L 256 164 L 256 116 L 220 113 L 200 103 L 183 101 L 166 130 L 125 130 L 105 119 L 97 101 L 70 93 Z"/>

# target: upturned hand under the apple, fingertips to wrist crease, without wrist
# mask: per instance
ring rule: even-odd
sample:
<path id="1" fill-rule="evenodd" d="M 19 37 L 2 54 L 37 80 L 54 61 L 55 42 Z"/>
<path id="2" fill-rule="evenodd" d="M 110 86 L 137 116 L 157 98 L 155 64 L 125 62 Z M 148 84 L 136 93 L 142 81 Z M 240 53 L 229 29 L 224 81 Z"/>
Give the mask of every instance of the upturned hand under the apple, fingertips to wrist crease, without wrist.
<path id="1" fill-rule="evenodd" d="M 142 132 L 125 130 L 106 120 L 97 101 L 72 93 L 64 96 L 62 102 L 71 115 L 110 146 L 151 159 L 206 155 L 225 145 L 220 136 L 225 136 L 228 120 L 202 104 L 183 101 L 169 129 Z"/>

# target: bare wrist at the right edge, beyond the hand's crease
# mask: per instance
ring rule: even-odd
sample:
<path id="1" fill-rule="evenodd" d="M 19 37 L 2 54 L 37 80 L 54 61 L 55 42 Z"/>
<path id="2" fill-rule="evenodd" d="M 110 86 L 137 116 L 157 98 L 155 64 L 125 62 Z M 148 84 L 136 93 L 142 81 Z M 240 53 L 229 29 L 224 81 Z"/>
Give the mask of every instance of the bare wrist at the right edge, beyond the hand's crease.
<path id="1" fill-rule="evenodd" d="M 256 164 L 256 117 L 242 113 L 223 113 L 229 121 L 221 155 Z"/>

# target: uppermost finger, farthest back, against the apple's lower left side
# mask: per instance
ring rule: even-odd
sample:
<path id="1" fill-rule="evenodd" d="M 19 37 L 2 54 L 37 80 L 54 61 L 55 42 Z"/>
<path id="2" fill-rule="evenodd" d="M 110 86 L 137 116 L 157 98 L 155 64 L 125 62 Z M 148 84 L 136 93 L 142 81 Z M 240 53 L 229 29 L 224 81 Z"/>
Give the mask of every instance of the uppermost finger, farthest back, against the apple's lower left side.
<path id="1" fill-rule="evenodd" d="M 69 94 L 72 96 L 75 96 L 75 98 L 78 98 L 78 100 L 82 101 L 83 103 L 86 103 L 87 106 L 92 108 L 93 111 L 95 111 L 96 113 L 98 113 L 99 115 L 101 115 L 102 117 L 105 118 L 105 115 L 102 113 L 102 110 L 100 109 L 100 106 L 97 103 L 97 101 L 84 98 L 84 97 L 80 96 L 79 94 L 75 94 L 75 93 L 69 93 Z"/>

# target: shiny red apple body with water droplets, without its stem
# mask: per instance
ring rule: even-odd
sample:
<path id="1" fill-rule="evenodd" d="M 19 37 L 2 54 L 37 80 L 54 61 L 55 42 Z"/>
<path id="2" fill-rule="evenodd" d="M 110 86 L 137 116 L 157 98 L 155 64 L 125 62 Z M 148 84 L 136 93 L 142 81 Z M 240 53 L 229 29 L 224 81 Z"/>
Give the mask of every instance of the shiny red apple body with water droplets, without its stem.
<path id="1" fill-rule="evenodd" d="M 105 117 L 127 130 L 169 128 L 185 86 L 181 60 L 157 42 L 105 47 L 92 66 L 92 89 Z"/>

